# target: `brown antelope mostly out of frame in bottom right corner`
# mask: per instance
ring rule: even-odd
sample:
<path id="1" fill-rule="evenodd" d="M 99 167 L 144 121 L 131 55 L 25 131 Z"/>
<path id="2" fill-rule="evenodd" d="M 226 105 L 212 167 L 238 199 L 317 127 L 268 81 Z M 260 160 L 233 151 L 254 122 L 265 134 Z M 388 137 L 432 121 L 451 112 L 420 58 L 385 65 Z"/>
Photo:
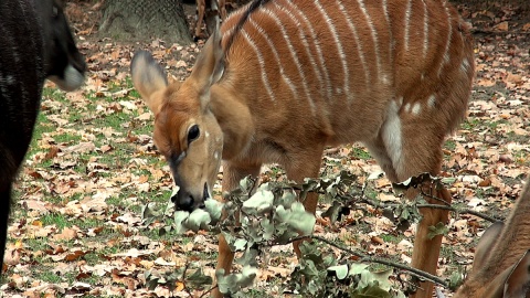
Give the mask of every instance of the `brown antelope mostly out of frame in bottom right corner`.
<path id="1" fill-rule="evenodd" d="M 467 280 L 455 298 L 530 297 L 530 179 L 506 223 L 495 223 L 478 242 Z"/>

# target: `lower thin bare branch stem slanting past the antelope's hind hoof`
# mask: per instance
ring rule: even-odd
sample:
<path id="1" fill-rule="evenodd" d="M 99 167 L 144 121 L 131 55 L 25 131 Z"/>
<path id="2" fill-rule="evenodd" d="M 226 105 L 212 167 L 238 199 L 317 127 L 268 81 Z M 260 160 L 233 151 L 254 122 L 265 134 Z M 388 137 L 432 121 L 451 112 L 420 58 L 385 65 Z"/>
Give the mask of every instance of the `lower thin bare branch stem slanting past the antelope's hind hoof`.
<path id="1" fill-rule="evenodd" d="M 400 263 L 395 263 L 395 262 L 392 262 L 392 260 L 388 260 L 388 259 L 383 259 L 383 258 L 378 258 L 378 257 L 371 257 L 371 256 L 368 256 L 363 253 L 360 253 L 360 252 L 356 252 L 353 249 L 350 249 L 348 247 L 344 247 L 342 245 L 339 245 L 330 240 L 327 240 L 325 237 L 321 237 L 321 236 L 316 236 L 316 235 L 309 235 L 309 236 L 299 236 L 299 237 L 295 237 L 295 238 L 292 238 L 289 242 L 295 242 L 295 241 L 300 241 L 300 240 L 307 240 L 307 238 L 311 238 L 311 240 L 316 240 L 316 241 L 319 241 L 319 242 L 324 242 L 328 245 L 331 245 L 342 252 L 346 252 L 350 255 L 354 255 L 354 256 L 358 256 L 361 258 L 361 262 L 364 262 L 364 263 L 378 263 L 378 264 L 382 264 L 382 265 L 386 265 L 386 266 L 390 266 L 390 267 L 394 267 L 394 268 L 399 268 L 399 269 L 402 269 L 402 270 L 405 270 L 407 273 L 410 273 L 411 275 L 415 276 L 415 277 L 418 277 L 421 279 L 425 279 L 427 281 L 432 281 L 434 284 L 437 284 L 439 286 L 443 286 L 445 288 L 448 287 L 448 284 L 446 281 L 444 281 L 442 278 L 435 276 L 435 275 L 432 275 L 430 273 L 426 273 L 426 272 L 423 272 L 423 270 L 420 270 L 420 269 L 416 269 L 416 268 L 413 268 L 413 267 L 410 267 L 410 266 L 406 266 L 406 265 L 403 265 L 403 264 L 400 264 Z"/>

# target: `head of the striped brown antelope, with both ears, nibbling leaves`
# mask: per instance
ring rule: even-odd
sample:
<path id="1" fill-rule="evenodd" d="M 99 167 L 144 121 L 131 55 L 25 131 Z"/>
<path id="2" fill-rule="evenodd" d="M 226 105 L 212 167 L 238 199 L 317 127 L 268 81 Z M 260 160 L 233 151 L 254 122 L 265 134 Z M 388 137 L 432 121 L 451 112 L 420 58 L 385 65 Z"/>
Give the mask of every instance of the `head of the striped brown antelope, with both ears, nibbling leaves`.
<path id="1" fill-rule="evenodd" d="M 210 87 L 223 72 L 222 55 L 216 32 L 204 45 L 190 77 L 171 84 L 149 53 L 138 52 L 131 62 L 134 85 L 155 114 L 155 145 L 179 187 L 171 198 L 179 210 L 203 207 L 204 201 L 212 198 L 223 134 L 210 108 Z"/>

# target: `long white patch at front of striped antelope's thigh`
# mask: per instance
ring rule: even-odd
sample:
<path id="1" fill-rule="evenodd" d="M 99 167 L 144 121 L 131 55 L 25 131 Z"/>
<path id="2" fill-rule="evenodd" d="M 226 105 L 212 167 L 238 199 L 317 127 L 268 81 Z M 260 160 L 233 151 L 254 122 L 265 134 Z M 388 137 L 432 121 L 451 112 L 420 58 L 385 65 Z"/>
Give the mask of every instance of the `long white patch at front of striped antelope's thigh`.
<path id="1" fill-rule="evenodd" d="M 409 104 L 407 104 L 409 105 Z M 386 152 L 392 160 L 393 168 L 400 172 L 402 155 L 401 119 L 399 116 L 400 107 L 395 100 L 390 103 L 386 113 L 386 121 L 382 127 L 382 138 Z"/>

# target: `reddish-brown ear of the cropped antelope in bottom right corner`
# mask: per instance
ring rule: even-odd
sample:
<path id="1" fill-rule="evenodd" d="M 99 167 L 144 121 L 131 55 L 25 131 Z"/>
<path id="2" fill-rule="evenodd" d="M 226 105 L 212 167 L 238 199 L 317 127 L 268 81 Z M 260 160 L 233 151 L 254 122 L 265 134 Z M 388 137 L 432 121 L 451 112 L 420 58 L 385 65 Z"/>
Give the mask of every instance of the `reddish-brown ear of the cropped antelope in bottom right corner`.
<path id="1" fill-rule="evenodd" d="M 505 298 L 527 297 L 530 289 L 530 251 L 516 264 L 505 284 Z"/>

